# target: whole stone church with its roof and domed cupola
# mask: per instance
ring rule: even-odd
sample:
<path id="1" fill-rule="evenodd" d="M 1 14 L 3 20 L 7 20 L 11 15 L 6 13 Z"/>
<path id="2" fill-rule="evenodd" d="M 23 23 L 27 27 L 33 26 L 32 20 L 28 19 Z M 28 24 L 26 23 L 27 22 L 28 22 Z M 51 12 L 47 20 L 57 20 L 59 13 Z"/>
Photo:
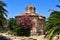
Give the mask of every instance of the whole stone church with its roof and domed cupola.
<path id="1" fill-rule="evenodd" d="M 22 17 L 23 15 L 29 15 L 33 18 L 35 22 L 34 27 L 31 30 L 31 35 L 42 35 L 44 34 L 44 26 L 45 26 L 45 17 L 36 13 L 36 8 L 32 5 L 28 5 L 25 8 L 25 13 L 16 16 L 16 18 Z"/>

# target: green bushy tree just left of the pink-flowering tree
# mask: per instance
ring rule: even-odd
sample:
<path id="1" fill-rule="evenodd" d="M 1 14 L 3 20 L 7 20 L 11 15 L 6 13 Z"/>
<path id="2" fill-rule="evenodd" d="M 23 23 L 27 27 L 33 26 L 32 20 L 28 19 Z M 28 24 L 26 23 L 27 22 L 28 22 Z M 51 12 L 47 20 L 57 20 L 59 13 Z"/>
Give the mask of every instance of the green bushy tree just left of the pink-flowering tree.
<path id="1" fill-rule="evenodd" d="M 10 33 L 17 35 L 18 25 L 16 24 L 16 18 L 10 18 L 8 20 L 8 30 Z M 19 30 L 18 30 L 19 31 Z"/>

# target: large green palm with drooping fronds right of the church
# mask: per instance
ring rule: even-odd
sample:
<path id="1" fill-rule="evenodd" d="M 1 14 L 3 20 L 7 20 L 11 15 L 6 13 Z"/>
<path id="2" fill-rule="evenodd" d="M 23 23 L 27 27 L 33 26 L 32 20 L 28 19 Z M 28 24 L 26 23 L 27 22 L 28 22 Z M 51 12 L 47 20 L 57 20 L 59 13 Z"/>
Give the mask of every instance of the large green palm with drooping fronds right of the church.
<path id="1" fill-rule="evenodd" d="M 53 11 L 46 22 L 46 37 L 49 40 L 60 33 L 60 12 Z"/>

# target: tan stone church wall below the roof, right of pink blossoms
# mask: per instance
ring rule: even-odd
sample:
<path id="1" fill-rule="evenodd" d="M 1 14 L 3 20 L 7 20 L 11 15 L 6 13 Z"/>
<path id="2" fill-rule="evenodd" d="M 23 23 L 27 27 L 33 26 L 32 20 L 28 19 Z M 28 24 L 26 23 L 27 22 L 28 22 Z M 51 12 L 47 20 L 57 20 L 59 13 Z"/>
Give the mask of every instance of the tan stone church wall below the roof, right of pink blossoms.
<path id="1" fill-rule="evenodd" d="M 38 16 L 33 16 L 33 21 L 35 22 L 31 33 L 36 35 L 44 34 L 45 19 L 39 19 Z"/>

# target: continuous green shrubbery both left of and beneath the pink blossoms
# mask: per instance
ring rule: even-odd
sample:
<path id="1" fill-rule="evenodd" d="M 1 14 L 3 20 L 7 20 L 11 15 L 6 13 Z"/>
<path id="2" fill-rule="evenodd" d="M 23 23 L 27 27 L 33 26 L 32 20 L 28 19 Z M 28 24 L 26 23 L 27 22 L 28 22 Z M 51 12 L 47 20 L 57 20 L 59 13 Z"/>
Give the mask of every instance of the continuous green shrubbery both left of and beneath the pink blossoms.
<path id="1" fill-rule="evenodd" d="M 9 24 L 8 24 L 8 30 L 12 32 L 12 34 L 18 35 L 18 36 L 29 36 L 30 35 L 30 28 L 25 29 L 21 25 L 16 24 L 17 19 L 16 18 L 10 18 Z"/>

